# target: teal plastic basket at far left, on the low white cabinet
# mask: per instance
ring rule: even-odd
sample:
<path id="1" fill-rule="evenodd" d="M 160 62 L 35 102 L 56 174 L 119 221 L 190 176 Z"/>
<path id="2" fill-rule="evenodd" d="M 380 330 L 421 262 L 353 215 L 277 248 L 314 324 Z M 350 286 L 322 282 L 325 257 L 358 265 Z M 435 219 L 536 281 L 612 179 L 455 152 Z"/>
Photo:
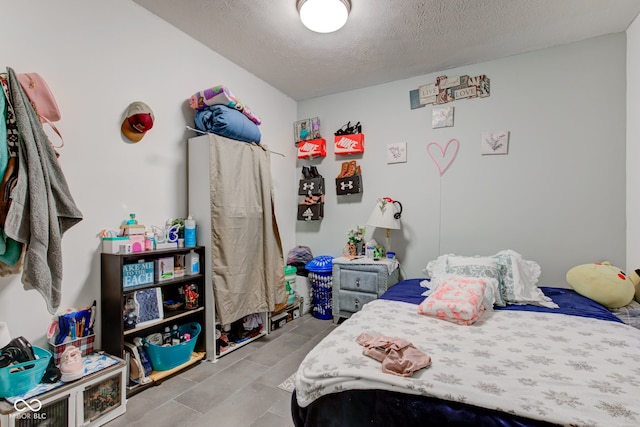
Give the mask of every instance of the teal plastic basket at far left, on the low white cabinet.
<path id="1" fill-rule="evenodd" d="M 51 353 L 33 346 L 36 360 L 6 366 L 0 369 L 0 398 L 26 393 L 40 383 L 47 369 Z"/>

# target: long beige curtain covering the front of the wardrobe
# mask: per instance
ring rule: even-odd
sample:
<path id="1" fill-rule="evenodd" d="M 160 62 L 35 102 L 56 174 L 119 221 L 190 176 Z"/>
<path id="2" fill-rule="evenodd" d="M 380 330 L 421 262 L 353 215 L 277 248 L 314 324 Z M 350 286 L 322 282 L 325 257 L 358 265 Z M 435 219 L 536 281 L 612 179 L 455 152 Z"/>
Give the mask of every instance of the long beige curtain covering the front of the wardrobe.
<path id="1" fill-rule="evenodd" d="M 209 134 L 211 277 L 222 324 L 286 299 L 267 147 Z"/>

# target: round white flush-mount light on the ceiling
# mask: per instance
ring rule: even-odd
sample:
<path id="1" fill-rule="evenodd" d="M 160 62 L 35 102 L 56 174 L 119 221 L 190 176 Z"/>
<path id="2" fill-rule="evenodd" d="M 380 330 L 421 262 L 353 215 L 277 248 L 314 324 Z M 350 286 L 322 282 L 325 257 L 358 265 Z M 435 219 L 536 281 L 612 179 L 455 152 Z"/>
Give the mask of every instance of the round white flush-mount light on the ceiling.
<path id="1" fill-rule="evenodd" d="M 300 20 L 316 33 L 332 33 L 347 23 L 349 0 L 297 0 Z"/>

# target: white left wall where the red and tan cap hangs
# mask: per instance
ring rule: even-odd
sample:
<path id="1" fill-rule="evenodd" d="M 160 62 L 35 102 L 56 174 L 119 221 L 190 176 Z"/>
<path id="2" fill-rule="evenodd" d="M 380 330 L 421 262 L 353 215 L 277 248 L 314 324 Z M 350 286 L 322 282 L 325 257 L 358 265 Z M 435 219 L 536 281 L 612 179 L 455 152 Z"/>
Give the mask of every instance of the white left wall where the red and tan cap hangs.
<path id="1" fill-rule="evenodd" d="M 130 212 L 145 225 L 187 215 L 186 140 L 195 136 L 185 129 L 194 116 L 187 100 L 217 84 L 262 117 L 263 143 L 287 156 L 273 155 L 272 166 L 284 255 L 294 246 L 291 98 L 129 0 L 3 0 L 0 28 L 3 66 L 43 75 L 62 111 L 60 163 L 84 220 L 63 238 L 61 308 L 99 303 L 101 229 L 117 228 Z M 151 106 L 156 122 L 132 144 L 120 124 L 138 100 Z M 0 278 L 0 320 L 12 335 L 44 345 L 50 319 L 42 297 L 24 291 L 19 276 Z"/>

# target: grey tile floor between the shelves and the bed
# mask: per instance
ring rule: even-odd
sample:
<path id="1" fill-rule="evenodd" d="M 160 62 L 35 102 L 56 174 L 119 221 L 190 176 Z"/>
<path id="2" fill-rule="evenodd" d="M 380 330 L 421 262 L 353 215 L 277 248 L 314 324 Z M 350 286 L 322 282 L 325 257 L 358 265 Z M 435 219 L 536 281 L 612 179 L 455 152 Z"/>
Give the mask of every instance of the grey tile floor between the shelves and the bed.
<path id="1" fill-rule="evenodd" d="M 293 426 L 291 394 L 278 384 L 334 328 L 305 314 L 216 363 L 201 362 L 132 396 L 127 412 L 106 426 Z"/>

